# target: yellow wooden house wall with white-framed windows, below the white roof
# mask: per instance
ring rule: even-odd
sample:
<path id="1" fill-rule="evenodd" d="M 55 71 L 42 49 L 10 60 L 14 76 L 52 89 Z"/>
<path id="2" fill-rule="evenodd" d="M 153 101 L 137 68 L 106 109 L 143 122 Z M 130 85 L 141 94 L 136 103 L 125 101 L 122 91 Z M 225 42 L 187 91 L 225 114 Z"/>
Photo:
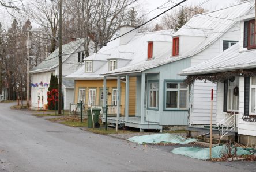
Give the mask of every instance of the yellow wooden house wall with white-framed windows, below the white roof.
<path id="1" fill-rule="evenodd" d="M 116 79 L 107 80 L 107 105 L 108 113 L 116 114 L 117 105 L 117 81 Z M 129 81 L 129 114 L 135 115 L 136 102 L 136 77 L 130 77 Z M 89 94 L 91 96 L 89 96 Z M 75 80 L 74 85 L 74 103 L 83 102 L 88 107 L 89 100 L 94 107 L 103 107 L 103 80 Z M 121 97 L 120 97 L 120 115 L 125 114 L 125 80 L 121 80 Z"/>

